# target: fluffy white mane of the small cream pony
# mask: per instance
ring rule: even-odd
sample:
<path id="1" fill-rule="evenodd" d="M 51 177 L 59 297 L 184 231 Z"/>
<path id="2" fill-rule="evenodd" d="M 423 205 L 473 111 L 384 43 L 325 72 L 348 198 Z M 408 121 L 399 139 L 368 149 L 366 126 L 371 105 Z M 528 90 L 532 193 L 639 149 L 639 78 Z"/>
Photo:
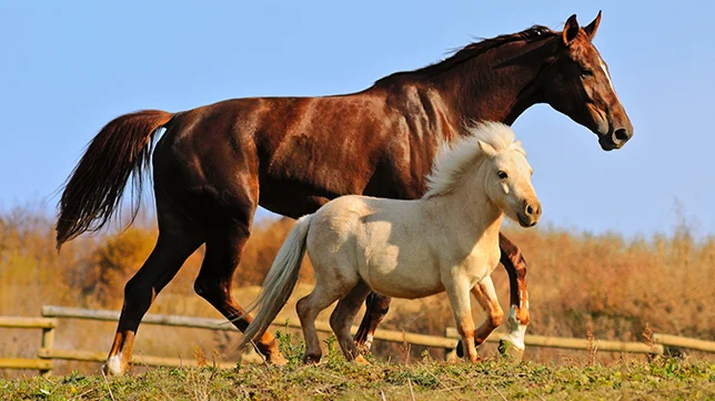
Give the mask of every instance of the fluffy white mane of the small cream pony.
<path id="1" fill-rule="evenodd" d="M 479 141 L 494 146 L 497 152 L 514 150 L 526 156 L 521 141 L 514 142 L 514 131 L 506 124 L 487 121 L 467 126 L 466 130 L 466 136 L 445 143 L 440 148 L 432 164 L 432 172 L 427 175 L 427 192 L 422 196 L 423 199 L 455 189 L 462 176 L 484 156 Z"/>

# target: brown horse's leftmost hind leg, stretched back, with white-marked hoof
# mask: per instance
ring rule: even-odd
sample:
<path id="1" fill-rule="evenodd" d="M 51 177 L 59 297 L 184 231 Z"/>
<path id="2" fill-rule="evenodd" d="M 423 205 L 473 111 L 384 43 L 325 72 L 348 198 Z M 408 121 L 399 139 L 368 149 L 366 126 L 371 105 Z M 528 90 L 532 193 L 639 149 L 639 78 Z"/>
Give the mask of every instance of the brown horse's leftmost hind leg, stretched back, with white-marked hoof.
<path id="1" fill-rule="evenodd" d="M 203 239 L 195 226 L 181 213 L 157 199 L 159 238 L 151 255 L 124 287 L 124 305 L 119 317 L 117 335 L 102 367 L 108 374 L 124 372 L 131 359 L 139 323 L 154 298 L 177 275 L 184 260 Z"/>

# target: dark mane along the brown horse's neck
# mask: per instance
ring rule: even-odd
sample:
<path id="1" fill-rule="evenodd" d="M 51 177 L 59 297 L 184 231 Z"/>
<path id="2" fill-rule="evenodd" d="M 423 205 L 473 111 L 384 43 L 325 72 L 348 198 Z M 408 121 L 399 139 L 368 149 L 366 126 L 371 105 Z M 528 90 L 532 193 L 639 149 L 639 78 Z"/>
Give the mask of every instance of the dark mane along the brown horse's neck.
<path id="1" fill-rule="evenodd" d="M 472 60 L 480 54 L 487 52 L 489 50 L 499 48 L 506 43 L 512 43 L 516 41 L 535 41 L 542 40 L 545 38 L 551 38 L 556 35 L 556 32 L 553 30 L 543 27 L 543 25 L 533 25 L 532 28 L 525 29 L 521 32 L 501 34 L 492 39 L 482 39 L 477 42 L 472 42 L 465 45 L 462 49 L 459 49 L 452 53 L 451 56 L 439 61 L 434 64 L 423 66 L 414 71 L 401 71 L 384 76 L 375 82 L 375 84 L 383 83 L 390 79 L 403 75 L 420 75 L 420 76 L 432 76 L 453 69 L 456 65 L 464 63 L 465 61 Z"/>

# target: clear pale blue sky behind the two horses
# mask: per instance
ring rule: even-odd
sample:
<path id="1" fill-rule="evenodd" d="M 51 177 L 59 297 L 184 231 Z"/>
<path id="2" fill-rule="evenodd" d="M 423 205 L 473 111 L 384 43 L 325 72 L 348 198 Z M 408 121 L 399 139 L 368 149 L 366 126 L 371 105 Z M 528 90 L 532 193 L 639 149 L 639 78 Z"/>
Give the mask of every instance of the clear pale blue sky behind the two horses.
<path id="1" fill-rule="evenodd" d="M 707 1 L 2 1 L 0 209 L 53 210 L 52 193 L 84 145 L 120 114 L 354 92 L 473 38 L 560 29 L 572 13 L 586 24 L 600 9 L 595 44 L 635 136 L 606 153 L 551 107 L 527 110 L 514 130 L 545 220 L 649 236 L 671 233 L 682 213 L 698 234 L 715 235 Z"/>

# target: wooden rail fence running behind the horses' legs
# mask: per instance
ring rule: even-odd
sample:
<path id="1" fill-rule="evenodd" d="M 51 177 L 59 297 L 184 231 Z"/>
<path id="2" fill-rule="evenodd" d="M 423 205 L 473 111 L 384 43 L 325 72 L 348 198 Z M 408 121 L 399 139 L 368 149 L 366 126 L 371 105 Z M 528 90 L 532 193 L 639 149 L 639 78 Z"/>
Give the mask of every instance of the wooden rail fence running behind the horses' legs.
<path id="1" fill-rule="evenodd" d="M 42 329 L 42 343 L 36 359 L 19 359 L 6 358 L 0 359 L 0 369 L 37 369 L 40 374 L 48 376 L 52 372 L 52 364 L 54 360 L 74 360 L 88 362 L 103 362 L 107 359 L 107 352 L 103 351 L 88 351 L 88 350 L 61 350 L 53 347 L 54 330 L 57 328 L 58 319 L 88 319 L 95 321 L 117 321 L 119 320 L 119 311 L 113 310 L 90 310 L 80 308 L 67 308 L 58 306 L 42 307 L 42 318 L 20 318 L 20 317 L 0 317 L 1 328 L 22 328 L 22 329 Z M 281 321 L 281 319 L 276 319 Z M 236 329 L 224 319 L 209 319 L 209 318 L 194 318 L 188 316 L 172 316 L 172 315 L 145 315 L 142 319 L 143 325 L 159 325 L 159 326 L 174 326 L 184 328 L 199 328 L 209 330 L 231 330 Z M 289 328 L 299 329 L 298 322 L 289 321 Z M 284 325 L 275 325 L 274 327 L 285 327 Z M 316 321 L 316 329 L 321 332 L 332 332 L 330 325 L 325 321 Z M 358 326 L 352 327 L 352 332 L 358 330 Z M 499 342 L 499 339 L 504 333 L 492 333 L 486 339 L 486 342 Z M 374 336 L 375 340 L 391 341 L 404 343 L 407 342 L 414 346 L 435 347 L 445 350 L 445 356 L 453 356 L 453 350 L 456 345 L 459 335 L 454 328 L 447 328 L 444 337 L 426 336 L 414 332 L 403 332 L 395 330 L 381 330 L 377 329 Z M 648 354 L 663 354 L 664 347 L 675 347 L 693 349 L 706 352 L 715 352 L 714 341 L 704 341 L 698 339 L 669 336 L 669 335 L 653 335 L 653 343 L 646 345 L 643 342 L 630 341 L 604 341 L 604 340 L 588 340 L 564 337 L 544 337 L 527 335 L 524 338 L 524 343 L 528 347 L 551 347 L 560 349 L 573 350 L 596 350 L 607 352 L 625 352 L 625 353 L 648 353 Z M 244 362 L 261 362 L 262 359 L 258 354 L 245 354 L 242 357 Z M 164 358 L 154 356 L 135 354 L 132 360 L 133 363 L 149 366 L 149 367 L 179 367 L 179 366 L 193 366 L 197 362 L 191 359 L 179 358 Z M 235 363 L 218 363 L 221 368 L 232 368 Z"/>

